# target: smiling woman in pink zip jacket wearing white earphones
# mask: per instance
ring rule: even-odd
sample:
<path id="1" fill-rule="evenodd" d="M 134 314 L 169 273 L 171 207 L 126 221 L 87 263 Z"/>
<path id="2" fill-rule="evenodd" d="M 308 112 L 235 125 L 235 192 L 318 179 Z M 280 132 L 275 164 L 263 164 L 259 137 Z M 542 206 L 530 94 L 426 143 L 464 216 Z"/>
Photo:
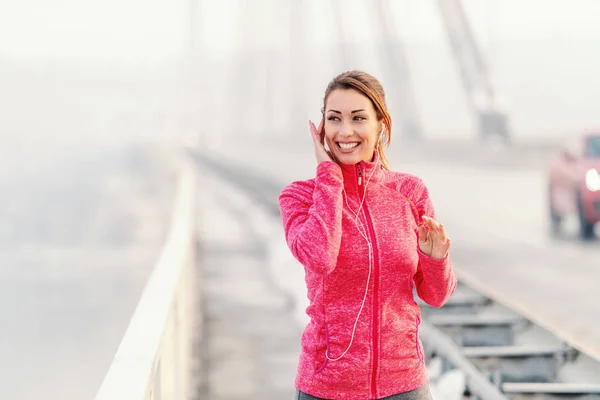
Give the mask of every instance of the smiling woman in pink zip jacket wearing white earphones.
<path id="1" fill-rule="evenodd" d="M 441 307 L 456 277 L 423 181 L 388 168 L 383 88 L 360 71 L 335 77 L 309 126 L 316 177 L 279 197 L 310 301 L 297 399 L 431 399 L 413 287 Z"/>

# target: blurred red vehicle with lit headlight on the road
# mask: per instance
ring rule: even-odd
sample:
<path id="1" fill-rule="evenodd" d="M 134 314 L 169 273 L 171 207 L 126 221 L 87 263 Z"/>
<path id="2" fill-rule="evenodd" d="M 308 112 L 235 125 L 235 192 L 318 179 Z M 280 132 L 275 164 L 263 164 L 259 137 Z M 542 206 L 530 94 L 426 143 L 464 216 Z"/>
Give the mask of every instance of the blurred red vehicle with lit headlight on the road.
<path id="1" fill-rule="evenodd" d="M 600 221 L 600 133 L 573 138 L 550 162 L 549 208 L 552 231 L 560 230 L 561 220 L 575 215 L 579 235 L 594 236 Z"/>

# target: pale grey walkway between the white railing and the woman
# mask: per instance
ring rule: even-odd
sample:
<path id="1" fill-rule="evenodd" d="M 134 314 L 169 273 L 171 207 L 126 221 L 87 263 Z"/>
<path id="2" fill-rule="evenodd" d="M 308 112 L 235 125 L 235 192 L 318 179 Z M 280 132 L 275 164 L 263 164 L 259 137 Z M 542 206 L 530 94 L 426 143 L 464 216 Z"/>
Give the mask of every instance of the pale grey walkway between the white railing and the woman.
<path id="1" fill-rule="evenodd" d="M 203 384 L 198 399 L 294 398 L 301 327 L 293 296 L 269 272 L 273 221 L 235 188 L 204 174 L 201 182 L 204 293 Z M 267 230 L 266 230 L 267 229 Z"/>

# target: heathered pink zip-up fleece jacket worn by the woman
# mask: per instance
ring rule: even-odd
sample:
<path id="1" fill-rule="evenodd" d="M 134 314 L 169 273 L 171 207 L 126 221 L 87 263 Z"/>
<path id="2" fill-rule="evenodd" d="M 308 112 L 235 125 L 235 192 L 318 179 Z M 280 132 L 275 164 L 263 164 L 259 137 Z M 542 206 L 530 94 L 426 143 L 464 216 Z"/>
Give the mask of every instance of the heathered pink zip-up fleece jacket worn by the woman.
<path id="1" fill-rule="evenodd" d="M 370 276 L 368 244 L 352 212 L 359 209 L 367 180 L 360 220 L 372 243 Z M 456 277 L 448 256 L 433 259 L 419 250 L 417 225 L 423 215 L 435 218 L 423 181 L 375 162 L 327 161 L 317 166 L 315 178 L 286 186 L 279 206 L 287 244 L 305 268 L 310 301 L 296 387 L 316 397 L 355 400 L 427 383 L 413 288 L 441 307 Z M 330 361 L 326 352 L 335 359 L 350 344 L 367 280 L 352 346 Z"/>

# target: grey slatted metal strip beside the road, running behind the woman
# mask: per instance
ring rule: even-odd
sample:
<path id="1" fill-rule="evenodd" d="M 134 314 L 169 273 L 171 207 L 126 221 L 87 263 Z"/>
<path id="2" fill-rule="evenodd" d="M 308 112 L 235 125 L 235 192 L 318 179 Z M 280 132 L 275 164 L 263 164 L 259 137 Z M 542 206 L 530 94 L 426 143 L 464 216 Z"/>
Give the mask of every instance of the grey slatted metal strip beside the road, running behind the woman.
<path id="1" fill-rule="evenodd" d="M 200 168 L 235 184 L 280 218 L 281 184 L 207 152 L 194 151 L 193 157 Z M 444 388 L 439 398 L 600 400 L 600 360 L 505 307 L 501 299 L 460 279 L 442 308 L 415 298 L 430 379 Z"/>

